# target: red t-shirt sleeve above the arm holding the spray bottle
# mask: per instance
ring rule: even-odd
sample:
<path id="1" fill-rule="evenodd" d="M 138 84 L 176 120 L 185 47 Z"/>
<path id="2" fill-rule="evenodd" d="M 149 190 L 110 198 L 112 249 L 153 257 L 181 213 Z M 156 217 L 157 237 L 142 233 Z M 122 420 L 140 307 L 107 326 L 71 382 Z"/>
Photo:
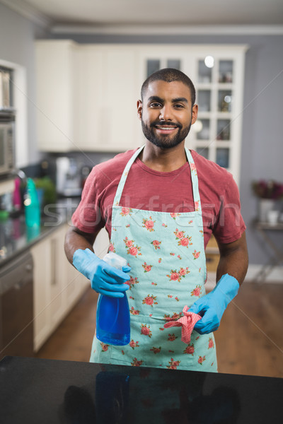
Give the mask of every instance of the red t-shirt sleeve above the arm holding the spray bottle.
<path id="1" fill-rule="evenodd" d="M 96 168 L 93 167 L 84 184 L 79 206 L 71 217 L 76 228 L 91 234 L 96 234 L 105 225 L 100 213 L 100 193 L 96 179 Z"/>

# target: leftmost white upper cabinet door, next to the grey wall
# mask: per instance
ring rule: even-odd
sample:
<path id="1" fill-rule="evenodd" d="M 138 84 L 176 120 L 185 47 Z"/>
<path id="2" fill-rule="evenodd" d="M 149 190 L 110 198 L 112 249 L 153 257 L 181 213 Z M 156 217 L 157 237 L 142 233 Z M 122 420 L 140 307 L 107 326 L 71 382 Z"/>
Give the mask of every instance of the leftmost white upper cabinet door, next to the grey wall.
<path id="1" fill-rule="evenodd" d="M 76 150 L 76 43 L 35 43 L 37 143 L 40 151 Z"/>

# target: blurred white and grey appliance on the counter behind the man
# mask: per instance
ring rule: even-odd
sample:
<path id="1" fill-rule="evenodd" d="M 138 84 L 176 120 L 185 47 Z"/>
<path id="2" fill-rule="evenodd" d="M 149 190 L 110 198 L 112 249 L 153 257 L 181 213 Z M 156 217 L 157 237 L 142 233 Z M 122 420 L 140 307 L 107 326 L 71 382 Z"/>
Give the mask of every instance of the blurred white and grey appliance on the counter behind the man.
<path id="1" fill-rule="evenodd" d="M 81 173 L 74 158 L 56 159 L 56 189 L 61 196 L 81 196 Z"/>

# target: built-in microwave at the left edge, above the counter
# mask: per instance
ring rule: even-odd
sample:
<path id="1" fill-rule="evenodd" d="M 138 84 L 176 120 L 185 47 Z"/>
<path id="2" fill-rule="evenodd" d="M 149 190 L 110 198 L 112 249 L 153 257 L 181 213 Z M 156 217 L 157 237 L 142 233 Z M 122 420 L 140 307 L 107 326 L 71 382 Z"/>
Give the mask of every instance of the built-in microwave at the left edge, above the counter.
<path id="1" fill-rule="evenodd" d="M 15 117 L 0 112 L 0 177 L 8 176 L 15 167 Z"/>

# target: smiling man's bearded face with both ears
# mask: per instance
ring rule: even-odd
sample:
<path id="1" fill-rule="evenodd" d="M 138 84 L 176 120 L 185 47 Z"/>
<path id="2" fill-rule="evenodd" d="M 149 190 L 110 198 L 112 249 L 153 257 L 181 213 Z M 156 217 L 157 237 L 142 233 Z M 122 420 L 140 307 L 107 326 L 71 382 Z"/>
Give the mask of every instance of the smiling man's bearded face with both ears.
<path id="1" fill-rule="evenodd" d="M 137 103 L 146 139 L 160 148 L 178 146 L 197 120 L 197 105 L 192 107 L 190 88 L 180 81 L 154 81 Z"/>

